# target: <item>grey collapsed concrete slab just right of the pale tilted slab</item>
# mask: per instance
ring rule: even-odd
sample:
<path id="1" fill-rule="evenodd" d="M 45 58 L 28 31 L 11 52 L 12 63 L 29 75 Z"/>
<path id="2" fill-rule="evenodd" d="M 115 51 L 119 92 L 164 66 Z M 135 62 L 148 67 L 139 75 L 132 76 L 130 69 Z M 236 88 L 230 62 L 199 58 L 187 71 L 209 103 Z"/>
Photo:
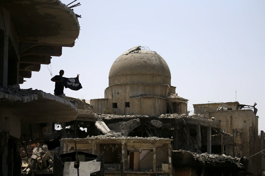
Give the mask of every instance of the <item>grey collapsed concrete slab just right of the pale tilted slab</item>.
<path id="1" fill-rule="evenodd" d="M 135 128 L 140 126 L 140 119 L 131 119 L 129 121 L 121 121 L 121 122 L 117 122 L 117 123 L 110 123 L 107 126 L 112 131 L 121 132 L 125 136 L 128 136 L 128 134 L 132 130 L 134 130 Z"/>

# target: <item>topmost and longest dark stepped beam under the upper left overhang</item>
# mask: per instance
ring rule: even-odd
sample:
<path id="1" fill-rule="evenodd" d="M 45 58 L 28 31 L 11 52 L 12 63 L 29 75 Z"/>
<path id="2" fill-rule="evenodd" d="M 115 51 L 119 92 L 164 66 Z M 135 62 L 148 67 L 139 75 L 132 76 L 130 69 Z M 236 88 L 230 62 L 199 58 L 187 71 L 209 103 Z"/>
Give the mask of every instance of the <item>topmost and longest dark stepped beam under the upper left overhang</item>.
<path id="1" fill-rule="evenodd" d="M 24 51 L 24 53 L 22 53 L 20 57 L 27 56 L 27 55 L 61 56 L 62 47 L 60 46 L 34 46 Z"/>

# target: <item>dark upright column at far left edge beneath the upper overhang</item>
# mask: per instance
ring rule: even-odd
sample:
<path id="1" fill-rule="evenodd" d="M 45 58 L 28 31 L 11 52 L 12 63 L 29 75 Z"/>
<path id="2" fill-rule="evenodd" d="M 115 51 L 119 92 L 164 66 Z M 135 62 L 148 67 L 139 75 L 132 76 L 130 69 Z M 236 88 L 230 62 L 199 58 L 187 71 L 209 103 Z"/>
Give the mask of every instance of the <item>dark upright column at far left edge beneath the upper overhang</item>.
<path id="1" fill-rule="evenodd" d="M 0 30 L 0 82 L 7 87 L 8 36 Z"/>

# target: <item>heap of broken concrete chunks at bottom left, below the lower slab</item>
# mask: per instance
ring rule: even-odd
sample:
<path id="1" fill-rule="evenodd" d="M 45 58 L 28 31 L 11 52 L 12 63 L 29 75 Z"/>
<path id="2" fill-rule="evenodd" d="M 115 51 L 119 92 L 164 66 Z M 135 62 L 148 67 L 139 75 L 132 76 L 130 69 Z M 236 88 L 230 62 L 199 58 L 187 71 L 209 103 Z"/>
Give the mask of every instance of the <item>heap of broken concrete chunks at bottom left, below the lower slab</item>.
<path id="1" fill-rule="evenodd" d="M 27 158 L 26 152 L 22 151 L 22 174 L 34 175 L 37 172 L 53 172 L 53 153 L 59 152 L 61 148 L 48 150 L 47 145 L 32 148 L 32 156 Z M 23 158 L 25 157 L 25 158 Z"/>

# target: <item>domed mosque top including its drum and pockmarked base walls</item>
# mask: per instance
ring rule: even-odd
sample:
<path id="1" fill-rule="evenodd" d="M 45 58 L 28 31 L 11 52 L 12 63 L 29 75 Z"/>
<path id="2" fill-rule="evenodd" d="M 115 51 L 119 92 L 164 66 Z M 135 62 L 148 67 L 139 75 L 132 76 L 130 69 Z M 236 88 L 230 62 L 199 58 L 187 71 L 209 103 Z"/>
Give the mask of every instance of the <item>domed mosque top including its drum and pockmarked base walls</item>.
<path id="1" fill-rule="evenodd" d="M 136 46 L 113 62 L 105 98 L 92 99 L 90 104 L 100 114 L 187 113 L 188 100 L 179 97 L 175 89 L 165 60 L 155 51 Z"/>

